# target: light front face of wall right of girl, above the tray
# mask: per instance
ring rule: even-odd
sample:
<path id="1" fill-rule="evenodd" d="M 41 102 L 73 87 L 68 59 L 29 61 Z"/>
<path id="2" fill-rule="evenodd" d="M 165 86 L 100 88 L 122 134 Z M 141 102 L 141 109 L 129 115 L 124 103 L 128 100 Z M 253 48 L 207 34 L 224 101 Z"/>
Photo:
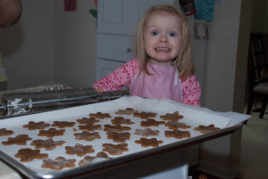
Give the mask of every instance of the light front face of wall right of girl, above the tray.
<path id="1" fill-rule="evenodd" d="M 206 108 L 228 111 L 233 108 L 241 0 L 222 2 L 215 4 L 214 20 L 208 23 L 203 94 Z"/>

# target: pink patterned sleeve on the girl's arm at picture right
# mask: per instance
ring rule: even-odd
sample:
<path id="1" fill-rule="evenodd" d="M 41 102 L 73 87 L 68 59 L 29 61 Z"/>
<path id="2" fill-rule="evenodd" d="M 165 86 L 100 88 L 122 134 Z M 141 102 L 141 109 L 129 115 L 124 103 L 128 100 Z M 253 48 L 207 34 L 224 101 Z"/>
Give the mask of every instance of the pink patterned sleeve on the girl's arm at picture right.
<path id="1" fill-rule="evenodd" d="M 183 103 L 190 104 L 193 106 L 200 106 L 201 90 L 200 85 L 197 81 L 197 77 L 194 75 L 188 77 L 182 83 L 182 95 Z"/>

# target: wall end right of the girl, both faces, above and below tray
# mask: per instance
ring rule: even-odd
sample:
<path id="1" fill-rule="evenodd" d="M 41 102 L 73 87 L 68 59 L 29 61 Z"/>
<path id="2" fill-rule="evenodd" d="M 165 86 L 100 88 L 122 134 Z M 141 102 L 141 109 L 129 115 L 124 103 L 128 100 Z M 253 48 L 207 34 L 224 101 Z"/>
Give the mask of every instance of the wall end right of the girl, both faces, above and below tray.
<path id="1" fill-rule="evenodd" d="M 243 112 L 252 2 L 225 0 L 215 5 L 207 42 L 207 108 Z M 239 173 L 241 133 L 239 129 L 201 143 L 199 169 L 220 178 L 234 178 Z"/>

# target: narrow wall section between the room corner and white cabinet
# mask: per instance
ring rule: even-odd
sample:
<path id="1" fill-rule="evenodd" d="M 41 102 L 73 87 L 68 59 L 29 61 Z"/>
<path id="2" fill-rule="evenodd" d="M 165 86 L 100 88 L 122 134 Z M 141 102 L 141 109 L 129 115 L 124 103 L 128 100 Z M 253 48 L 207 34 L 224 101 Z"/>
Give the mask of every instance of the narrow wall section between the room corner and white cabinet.
<path id="1" fill-rule="evenodd" d="M 76 87 L 96 80 L 96 20 L 88 10 L 94 1 L 79 0 L 76 12 L 63 12 L 54 1 L 54 80 Z"/>

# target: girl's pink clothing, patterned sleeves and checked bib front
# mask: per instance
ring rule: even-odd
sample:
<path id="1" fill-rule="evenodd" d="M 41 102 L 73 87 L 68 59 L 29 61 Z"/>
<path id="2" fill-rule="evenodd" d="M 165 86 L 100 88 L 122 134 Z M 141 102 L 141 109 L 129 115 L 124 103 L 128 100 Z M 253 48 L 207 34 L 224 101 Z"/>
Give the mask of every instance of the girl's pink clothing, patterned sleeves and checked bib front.
<path id="1" fill-rule="evenodd" d="M 177 69 L 174 67 L 148 64 L 147 69 L 152 76 L 144 72 L 138 73 L 138 60 L 133 59 L 115 69 L 113 73 L 97 80 L 93 87 L 102 88 L 104 91 L 118 91 L 127 86 L 131 95 L 153 99 L 167 98 L 200 106 L 200 85 L 194 75 L 180 81 Z"/>

